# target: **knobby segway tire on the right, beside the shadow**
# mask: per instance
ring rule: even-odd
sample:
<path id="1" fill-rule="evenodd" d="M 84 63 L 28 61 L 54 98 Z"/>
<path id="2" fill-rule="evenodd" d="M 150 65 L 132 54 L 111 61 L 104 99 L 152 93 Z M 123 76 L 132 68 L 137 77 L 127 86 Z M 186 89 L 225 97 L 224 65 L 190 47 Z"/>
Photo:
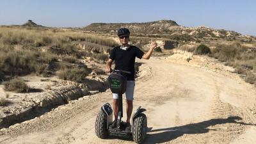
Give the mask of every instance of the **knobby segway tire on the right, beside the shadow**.
<path id="1" fill-rule="evenodd" d="M 132 124 L 132 138 L 136 143 L 143 143 L 147 134 L 147 116 L 140 113 Z"/>

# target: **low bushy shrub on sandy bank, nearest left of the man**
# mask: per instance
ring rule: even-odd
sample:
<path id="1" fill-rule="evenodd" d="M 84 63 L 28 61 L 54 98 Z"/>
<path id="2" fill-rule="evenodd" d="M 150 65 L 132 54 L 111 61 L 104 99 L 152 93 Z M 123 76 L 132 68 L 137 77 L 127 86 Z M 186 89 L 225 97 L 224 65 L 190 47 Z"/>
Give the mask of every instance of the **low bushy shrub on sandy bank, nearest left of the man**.
<path id="1" fill-rule="evenodd" d="M 60 70 L 58 76 L 60 79 L 82 83 L 90 72 L 91 70 L 84 65 L 83 67 L 63 68 Z"/>

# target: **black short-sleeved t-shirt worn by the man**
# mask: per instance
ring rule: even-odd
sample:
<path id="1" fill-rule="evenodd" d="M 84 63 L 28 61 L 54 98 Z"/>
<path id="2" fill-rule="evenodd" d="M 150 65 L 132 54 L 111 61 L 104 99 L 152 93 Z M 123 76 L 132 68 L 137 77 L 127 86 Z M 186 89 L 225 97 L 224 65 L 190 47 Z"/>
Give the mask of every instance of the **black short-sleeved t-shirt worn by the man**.
<path id="1" fill-rule="evenodd" d="M 134 81 L 135 57 L 141 59 L 143 54 L 144 52 L 134 45 L 130 45 L 127 50 L 121 49 L 120 46 L 118 46 L 111 50 L 109 58 L 113 61 L 115 60 L 115 70 L 131 72 L 131 74 L 124 74 L 124 76 L 127 77 L 127 81 Z"/>

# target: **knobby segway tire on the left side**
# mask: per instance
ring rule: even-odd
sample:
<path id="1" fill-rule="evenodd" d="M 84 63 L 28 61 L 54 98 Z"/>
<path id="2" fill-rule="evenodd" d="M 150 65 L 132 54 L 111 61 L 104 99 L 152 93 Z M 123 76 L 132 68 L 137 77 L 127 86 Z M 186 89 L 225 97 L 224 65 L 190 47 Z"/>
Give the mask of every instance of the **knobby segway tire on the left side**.
<path id="1" fill-rule="evenodd" d="M 107 118 L 108 116 L 103 111 L 97 115 L 95 121 L 95 133 L 99 138 L 107 138 L 108 137 L 108 129 L 107 127 Z"/>

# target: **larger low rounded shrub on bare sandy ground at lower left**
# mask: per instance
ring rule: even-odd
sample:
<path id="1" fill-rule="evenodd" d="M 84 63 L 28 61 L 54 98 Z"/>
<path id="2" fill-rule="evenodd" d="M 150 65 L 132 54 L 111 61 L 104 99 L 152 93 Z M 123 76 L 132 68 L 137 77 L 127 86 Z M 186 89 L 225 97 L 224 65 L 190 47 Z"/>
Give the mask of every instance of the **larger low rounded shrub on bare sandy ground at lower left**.
<path id="1" fill-rule="evenodd" d="M 10 81 L 5 81 L 4 90 L 13 91 L 17 93 L 29 92 L 29 86 L 22 79 L 11 79 Z"/>

